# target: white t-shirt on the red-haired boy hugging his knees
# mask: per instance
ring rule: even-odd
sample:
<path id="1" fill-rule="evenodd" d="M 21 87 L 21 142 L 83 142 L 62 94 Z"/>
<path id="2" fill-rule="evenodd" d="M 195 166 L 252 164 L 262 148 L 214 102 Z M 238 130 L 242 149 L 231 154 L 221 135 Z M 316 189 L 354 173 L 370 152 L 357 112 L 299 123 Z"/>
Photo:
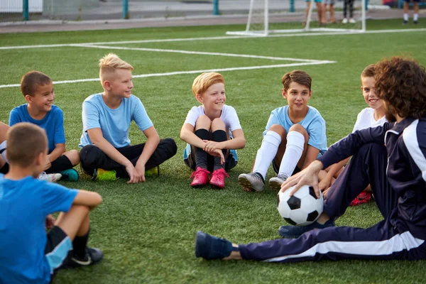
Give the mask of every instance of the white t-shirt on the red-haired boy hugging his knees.
<path id="1" fill-rule="evenodd" d="M 197 119 L 204 115 L 204 107 L 192 107 L 190 111 L 188 111 L 187 118 L 185 119 L 185 124 L 191 124 L 195 127 L 195 122 Z M 236 129 L 241 129 L 241 124 L 238 119 L 238 115 L 236 115 L 236 111 L 233 107 L 227 106 L 224 104 L 222 108 L 222 114 L 220 114 L 220 119 L 224 121 L 226 129 L 229 131 L 229 137 L 232 138 L 232 131 Z"/>

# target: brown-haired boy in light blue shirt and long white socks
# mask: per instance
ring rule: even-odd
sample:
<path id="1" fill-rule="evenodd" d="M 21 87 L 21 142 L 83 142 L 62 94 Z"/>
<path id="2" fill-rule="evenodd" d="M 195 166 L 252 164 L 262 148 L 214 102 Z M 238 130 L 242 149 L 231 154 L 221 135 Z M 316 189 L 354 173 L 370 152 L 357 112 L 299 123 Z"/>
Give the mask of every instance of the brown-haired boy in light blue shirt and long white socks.
<path id="1" fill-rule="evenodd" d="M 310 75 L 294 70 L 283 76 L 282 83 L 288 105 L 272 111 L 252 173 L 239 175 L 244 190 L 263 190 L 272 162 L 278 175 L 269 180 L 269 186 L 280 189 L 290 175 L 327 151 L 325 121 L 317 109 L 307 105 L 312 96 Z"/>

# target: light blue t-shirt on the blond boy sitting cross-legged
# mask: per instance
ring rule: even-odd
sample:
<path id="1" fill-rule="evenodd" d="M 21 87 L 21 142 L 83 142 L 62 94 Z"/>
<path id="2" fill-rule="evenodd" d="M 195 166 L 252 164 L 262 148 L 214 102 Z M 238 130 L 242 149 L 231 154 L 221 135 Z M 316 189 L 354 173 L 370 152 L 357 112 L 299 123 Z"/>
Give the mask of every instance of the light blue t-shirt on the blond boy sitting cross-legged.
<path id="1" fill-rule="evenodd" d="M 101 129 L 102 135 L 112 146 L 121 148 L 130 145 L 131 121 L 135 121 L 141 131 L 153 126 L 141 100 L 133 94 L 129 98 L 122 98 L 116 109 L 110 109 L 105 104 L 102 94 L 92 94 L 84 99 L 82 120 L 83 133 L 79 147 L 92 144 L 87 134 L 89 129 Z"/>

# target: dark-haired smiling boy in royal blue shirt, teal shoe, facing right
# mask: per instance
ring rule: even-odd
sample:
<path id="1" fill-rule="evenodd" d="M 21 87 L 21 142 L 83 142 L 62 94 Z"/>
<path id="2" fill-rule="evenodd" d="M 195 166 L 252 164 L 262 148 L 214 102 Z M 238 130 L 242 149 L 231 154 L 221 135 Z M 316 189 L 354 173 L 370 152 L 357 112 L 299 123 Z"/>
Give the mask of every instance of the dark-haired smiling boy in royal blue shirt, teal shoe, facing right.
<path id="1" fill-rule="evenodd" d="M 53 104 L 55 92 L 52 80 L 42 72 L 28 72 L 21 79 L 21 92 L 27 103 L 11 110 L 9 125 L 30 122 L 45 129 L 49 152 L 43 172 L 60 173 L 62 179 L 77 181 L 78 173 L 73 167 L 80 163 L 80 156 L 77 150 L 65 149 L 64 114 Z M 60 178 L 60 175 L 50 176 Z M 48 177 L 40 175 L 40 178 Z"/>

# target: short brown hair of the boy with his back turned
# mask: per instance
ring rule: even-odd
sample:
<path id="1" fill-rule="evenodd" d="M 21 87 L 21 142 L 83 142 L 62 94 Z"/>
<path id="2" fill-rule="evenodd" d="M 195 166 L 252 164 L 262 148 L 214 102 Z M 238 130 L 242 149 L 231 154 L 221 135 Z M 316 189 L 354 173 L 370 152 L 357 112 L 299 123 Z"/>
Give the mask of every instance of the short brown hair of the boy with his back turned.
<path id="1" fill-rule="evenodd" d="M 21 168 L 33 166 L 35 158 L 48 149 L 45 131 L 28 122 L 13 125 L 6 134 L 7 158 L 11 165 Z"/>

